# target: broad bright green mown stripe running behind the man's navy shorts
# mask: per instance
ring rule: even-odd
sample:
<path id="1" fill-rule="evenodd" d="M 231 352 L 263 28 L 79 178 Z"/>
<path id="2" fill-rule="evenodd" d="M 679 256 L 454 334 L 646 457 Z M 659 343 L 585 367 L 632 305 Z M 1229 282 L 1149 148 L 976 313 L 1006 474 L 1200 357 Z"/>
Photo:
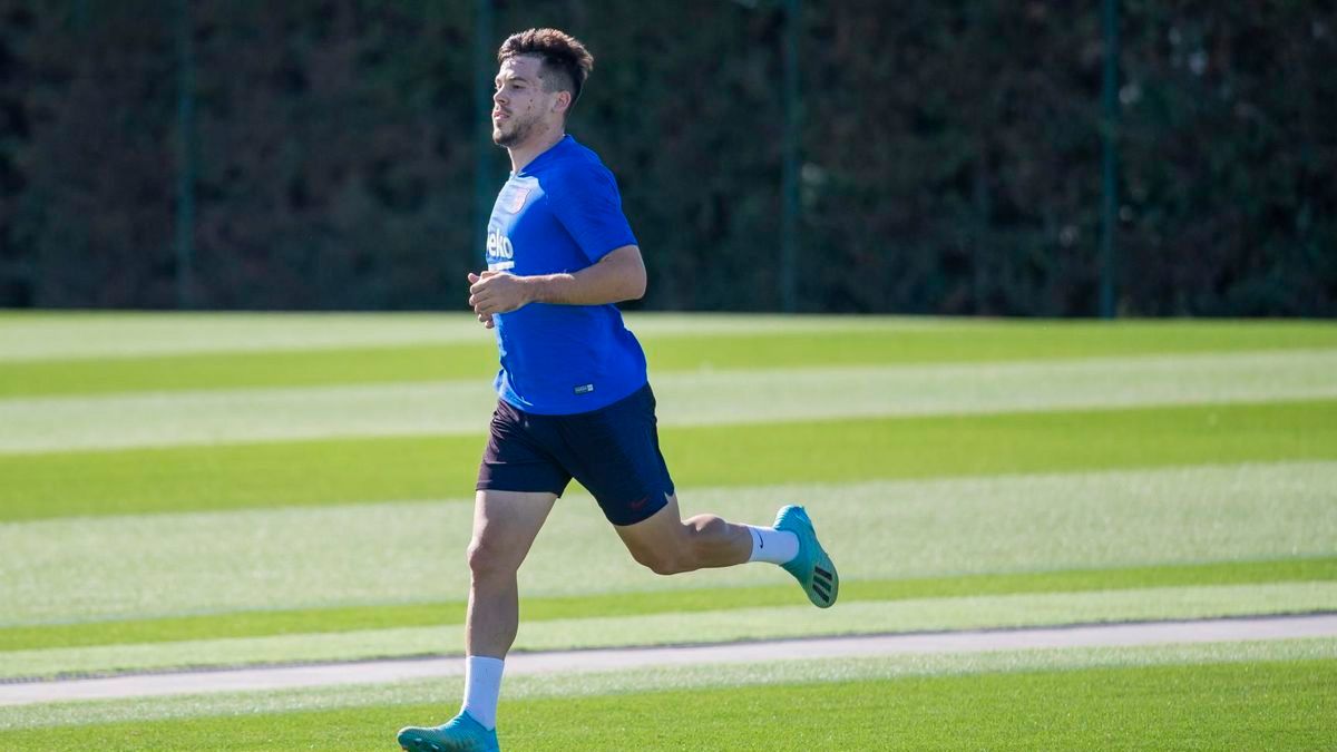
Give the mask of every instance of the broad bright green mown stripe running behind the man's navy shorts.
<path id="1" fill-rule="evenodd" d="M 0 455 L 0 521 L 469 494 L 479 436 Z M 681 488 L 1337 459 L 1337 401 L 666 427 Z"/>

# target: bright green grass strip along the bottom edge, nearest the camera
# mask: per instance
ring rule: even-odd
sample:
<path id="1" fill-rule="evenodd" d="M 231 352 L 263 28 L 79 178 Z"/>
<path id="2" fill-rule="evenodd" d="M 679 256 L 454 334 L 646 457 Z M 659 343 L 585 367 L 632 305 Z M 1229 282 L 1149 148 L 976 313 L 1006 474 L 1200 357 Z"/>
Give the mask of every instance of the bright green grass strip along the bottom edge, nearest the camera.
<path id="1" fill-rule="evenodd" d="M 698 686 L 503 700 L 500 743 L 528 752 L 1333 748 L 1337 661 L 1292 660 L 860 681 Z M 459 694 L 451 694 L 453 702 Z M 286 713 L 0 732 L 48 749 L 393 749 L 453 712 L 388 702 Z M 685 723 L 685 719 L 689 720 Z"/>

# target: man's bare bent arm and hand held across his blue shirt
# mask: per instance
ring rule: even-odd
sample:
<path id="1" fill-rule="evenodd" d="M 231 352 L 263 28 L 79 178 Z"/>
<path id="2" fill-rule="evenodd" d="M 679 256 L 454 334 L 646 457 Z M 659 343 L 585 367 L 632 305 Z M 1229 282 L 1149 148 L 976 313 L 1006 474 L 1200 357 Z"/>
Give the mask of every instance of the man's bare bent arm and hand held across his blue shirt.
<path id="1" fill-rule="evenodd" d="M 531 302 L 604 305 L 646 294 L 646 264 L 640 249 L 624 245 L 596 264 L 570 274 L 516 277 L 507 272 L 469 274 L 469 305 L 488 328 L 492 316 Z"/>

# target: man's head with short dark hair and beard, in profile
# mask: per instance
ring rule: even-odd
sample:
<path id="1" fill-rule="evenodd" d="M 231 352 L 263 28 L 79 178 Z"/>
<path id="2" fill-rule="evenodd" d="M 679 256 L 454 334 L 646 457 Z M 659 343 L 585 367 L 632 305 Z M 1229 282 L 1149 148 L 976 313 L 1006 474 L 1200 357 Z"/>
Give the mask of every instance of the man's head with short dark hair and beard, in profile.
<path id="1" fill-rule="evenodd" d="M 578 39 L 554 28 L 512 33 L 497 50 L 492 140 L 524 143 L 536 130 L 560 127 L 594 68 Z"/>

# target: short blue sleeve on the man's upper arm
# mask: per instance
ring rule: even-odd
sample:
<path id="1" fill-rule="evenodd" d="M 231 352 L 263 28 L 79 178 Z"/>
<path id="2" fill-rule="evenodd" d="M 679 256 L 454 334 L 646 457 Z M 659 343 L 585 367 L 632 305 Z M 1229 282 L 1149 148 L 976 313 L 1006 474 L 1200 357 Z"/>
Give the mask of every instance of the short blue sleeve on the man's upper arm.
<path id="1" fill-rule="evenodd" d="M 603 165 L 574 165 L 544 193 L 554 215 L 591 262 L 622 246 L 636 245 L 627 215 L 622 213 L 618 182 Z"/>

